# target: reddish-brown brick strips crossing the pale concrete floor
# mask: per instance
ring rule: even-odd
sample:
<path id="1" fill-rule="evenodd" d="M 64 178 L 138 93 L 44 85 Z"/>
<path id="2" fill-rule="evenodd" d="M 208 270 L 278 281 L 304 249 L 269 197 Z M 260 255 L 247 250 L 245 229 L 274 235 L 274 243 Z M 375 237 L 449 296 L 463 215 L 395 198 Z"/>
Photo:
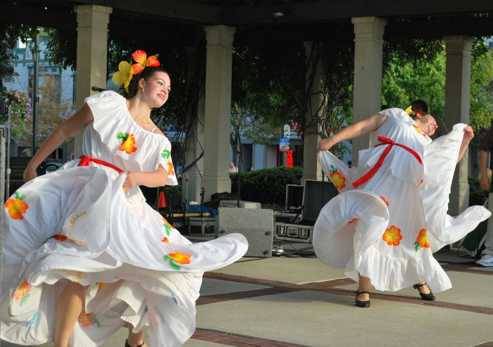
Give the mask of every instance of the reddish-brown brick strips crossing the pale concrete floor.
<path id="1" fill-rule="evenodd" d="M 489 271 L 468 269 L 472 266 L 473 265 L 471 264 L 446 264 L 443 265 L 442 268 L 446 271 L 459 271 L 459 272 L 468 272 L 468 273 L 478 273 L 482 275 L 493 275 L 493 272 L 489 272 Z M 323 282 L 293 284 L 288 282 L 272 281 L 268 279 L 251 278 L 246 276 L 237 276 L 237 275 L 230 275 L 230 274 L 216 273 L 216 272 L 206 272 L 204 273 L 204 277 L 220 279 L 225 281 L 234 281 L 240 283 L 259 284 L 259 285 L 269 286 L 271 288 L 201 296 L 199 299 L 197 299 L 196 306 L 225 302 L 230 300 L 237 300 L 237 299 L 254 298 L 254 297 L 265 296 L 265 295 L 290 293 L 290 292 L 296 292 L 302 290 L 312 290 L 312 291 L 320 291 L 324 293 L 352 296 L 354 295 L 352 290 L 335 288 L 335 287 L 356 283 L 350 278 L 340 278 L 340 279 L 334 279 L 334 280 L 323 281 Z M 397 295 L 380 294 L 380 293 L 371 293 L 371 297 L 379 300 L 398 301 L 407 304 L 428 305 L 437 308 L 457 309 L 457 310 L 463 310 L 463 311 L 469 311 L 475 313 L 493 314 L 493 308 L 482 308 L 482 307 L 470 306 L 470 305 L 458 305 L 458 304 L 452 304 L 452 303 L 446 303 L 440 301 L 424 301 L 417 298 L 402 297 Z M 200 329 L 195 330 L 195 333 L 192 335 L 191 338 L 195 340 L 213 342 L 221 345 L 239 346 L 239 347 L 241 346 L 243 347 L 252 347 L 252 346 L 302 347 L 301 345 L 292 345 L 292 344 L 286 344 L 277 341 L 268 341 L 268 340 L 262 340 L 256 338 L 249 338 L 240 335 L 227 334 L 225 332 L 220 332 L 220 331 L 209 331 L 209 330 L 200 330 Z M 493 341 L 484 343 L 482 345 L 477 345 L 474 347 L 493 347 Z"/>

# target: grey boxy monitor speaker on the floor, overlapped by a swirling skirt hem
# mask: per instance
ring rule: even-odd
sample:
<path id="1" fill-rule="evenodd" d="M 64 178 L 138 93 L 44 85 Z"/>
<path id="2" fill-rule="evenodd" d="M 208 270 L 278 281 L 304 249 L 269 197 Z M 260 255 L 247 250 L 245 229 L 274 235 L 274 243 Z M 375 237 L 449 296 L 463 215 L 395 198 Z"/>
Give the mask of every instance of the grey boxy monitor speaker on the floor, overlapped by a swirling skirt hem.
<path id="1" fill-rule="evenodd" d="M 248 241 L 245 257 L 272 256 L 274 212 L 271 209 L 219 207 L 215 237 L 233 232 L 241 233 Z"/>

